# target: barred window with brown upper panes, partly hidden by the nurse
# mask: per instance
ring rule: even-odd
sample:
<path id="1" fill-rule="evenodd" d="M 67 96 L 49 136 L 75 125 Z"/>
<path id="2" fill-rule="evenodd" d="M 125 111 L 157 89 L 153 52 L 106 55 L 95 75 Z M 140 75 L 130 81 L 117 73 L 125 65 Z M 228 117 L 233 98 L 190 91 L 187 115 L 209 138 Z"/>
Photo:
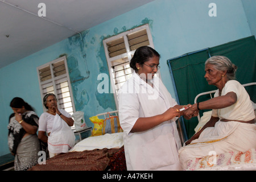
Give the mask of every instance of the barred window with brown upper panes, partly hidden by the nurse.
<path id="1" fill-rule="evenodd" d="M 115 104 L 118 107 L 117 93 L 123 83 L 132 75 L 130 60 L 135 50 L 141 46 L 154 48 L 148 24 L 103 40 L 109 66 L 110 82 L 115 90 Z"/>

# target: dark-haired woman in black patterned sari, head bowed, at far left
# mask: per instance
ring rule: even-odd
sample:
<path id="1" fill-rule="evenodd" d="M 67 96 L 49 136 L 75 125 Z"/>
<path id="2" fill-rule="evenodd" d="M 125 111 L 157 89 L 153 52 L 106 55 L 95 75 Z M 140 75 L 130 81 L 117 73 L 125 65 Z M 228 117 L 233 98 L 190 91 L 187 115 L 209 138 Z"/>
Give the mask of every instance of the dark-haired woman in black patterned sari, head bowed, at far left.
<path id="1" fill-rule="evenodd" d="M 25 171 L 38 163 L 40 142 L 38 130 L 38 115 L 22 98 L 15 97 L 10 103 L 14 113 L 9 119 L 8 144 L 11 154 L 15 155 L 15 171 Z"/>

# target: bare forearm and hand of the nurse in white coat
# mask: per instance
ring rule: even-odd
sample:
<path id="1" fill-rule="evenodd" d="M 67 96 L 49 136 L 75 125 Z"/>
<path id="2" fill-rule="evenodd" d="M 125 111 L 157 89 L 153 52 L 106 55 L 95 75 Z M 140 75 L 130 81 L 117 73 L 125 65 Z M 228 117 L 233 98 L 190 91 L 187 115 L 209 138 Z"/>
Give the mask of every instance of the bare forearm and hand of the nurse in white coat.
<path id="1" fill-rule="evenodd" d="M 155 126 L 158 126 L 160 123 L 164 121 L 168 121 L 174 117 L 179 117 L 180 109 L 182 106 L 176 105 L 174 107 L 170 107 L 163 114 L 155 115 L 152 117 L 138 118 L 135 122 L 133 129 L 131 129 L 131 133 L 142 132 L 152 129 Z"/>

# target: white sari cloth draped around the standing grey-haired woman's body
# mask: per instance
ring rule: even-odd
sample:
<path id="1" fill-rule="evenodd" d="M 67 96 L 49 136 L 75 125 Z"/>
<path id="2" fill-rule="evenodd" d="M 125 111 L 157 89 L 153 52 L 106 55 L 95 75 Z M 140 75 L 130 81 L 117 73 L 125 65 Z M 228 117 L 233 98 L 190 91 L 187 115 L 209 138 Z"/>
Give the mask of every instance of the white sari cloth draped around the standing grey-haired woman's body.
<path id="1" fill-rule="evenodd" d="M 75 138 L 71 127 L 56 114 L 48 137 L 48 150 L 54 154 L 66 153 L 75 145 Z"/>

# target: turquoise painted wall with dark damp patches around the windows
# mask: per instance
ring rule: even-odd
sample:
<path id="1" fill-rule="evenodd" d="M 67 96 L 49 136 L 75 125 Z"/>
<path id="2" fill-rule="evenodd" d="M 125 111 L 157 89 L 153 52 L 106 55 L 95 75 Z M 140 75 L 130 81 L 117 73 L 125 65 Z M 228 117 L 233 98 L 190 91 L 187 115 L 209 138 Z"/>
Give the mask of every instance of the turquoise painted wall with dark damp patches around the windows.
<path id="1" fill-rule="evenodd" d="M 156 0 L 81 32 L 85 59 L 90 72 L 89 78 L 81 81 L 73 82 L 88 76 L 79 35 L 67 38 L 0 69 L 0 155 L 9 153 L 7 124 L 12 113 L 9 107 L 11 99 L 22 97 L 35 107 L 36 113 L 40 116 L 43 113 L 43 105 L 36 67 L 63 54 L 67 55 L 69 72 L 71 72 L 69 76 L 73 82 L 76 110 L 84 111 L 87 125 L 93 126 L 89 117 L 115 110 L 113 94 L 97 92 L 97 85 L 100 82 L 97 80 L 98 74 L 108 73 L 102 40 L 145 23 L 150 25 L 155 49 L 161 55 L 162 80 L 175 97 L 166 64 L 167 59 L 251 35 L 241 0 L 214 0 L 217 5 L 216 17 L 208 15 L 210 10 L 208 5 L 211 2 L 213 1 Z"/>

